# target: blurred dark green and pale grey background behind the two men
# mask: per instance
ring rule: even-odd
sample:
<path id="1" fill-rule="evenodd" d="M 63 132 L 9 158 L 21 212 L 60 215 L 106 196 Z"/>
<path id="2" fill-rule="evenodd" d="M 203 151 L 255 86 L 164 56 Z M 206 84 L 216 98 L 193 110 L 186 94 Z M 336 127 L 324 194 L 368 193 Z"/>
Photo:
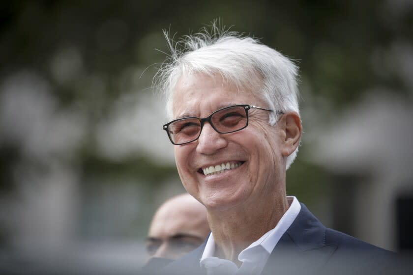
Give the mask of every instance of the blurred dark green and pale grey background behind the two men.
<path id="1" fill-rule="evenodd" d="M 184 191 L 151 89 L 162 30 L 215 18 L 300 67 L 288 193 L 413 249 L 412 0 L 21 0 L 0 4 L 0 270 L 136 274 L 155 209 Z"/>

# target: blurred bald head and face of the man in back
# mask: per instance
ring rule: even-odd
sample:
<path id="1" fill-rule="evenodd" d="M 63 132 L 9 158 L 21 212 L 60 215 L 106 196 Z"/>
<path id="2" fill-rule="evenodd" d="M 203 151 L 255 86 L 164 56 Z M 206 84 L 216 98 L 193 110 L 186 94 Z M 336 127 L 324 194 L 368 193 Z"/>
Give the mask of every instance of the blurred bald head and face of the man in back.
<path id="1" fill-rule="evenodd" d="M 147 251 L 151 257 L 175 260 L 199 247 L 209 234 L 207 211 L 185 193 L 166 201 L 149 227 Z"/>

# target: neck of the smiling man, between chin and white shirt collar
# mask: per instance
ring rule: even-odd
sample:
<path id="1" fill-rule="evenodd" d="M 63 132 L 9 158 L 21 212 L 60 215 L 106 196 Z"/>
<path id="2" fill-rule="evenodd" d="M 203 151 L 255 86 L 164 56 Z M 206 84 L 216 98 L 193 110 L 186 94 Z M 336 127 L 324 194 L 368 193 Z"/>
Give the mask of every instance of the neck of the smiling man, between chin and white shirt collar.
<path id="1" fill-rule="evenodd" d="M 254 205 L 208 210 L 208 222 L 216 245 L 215 256 L 239 266 L 238 254 L 273 229 L 288 208 L 284 192 L 276 198 L 262 198 Z"/>

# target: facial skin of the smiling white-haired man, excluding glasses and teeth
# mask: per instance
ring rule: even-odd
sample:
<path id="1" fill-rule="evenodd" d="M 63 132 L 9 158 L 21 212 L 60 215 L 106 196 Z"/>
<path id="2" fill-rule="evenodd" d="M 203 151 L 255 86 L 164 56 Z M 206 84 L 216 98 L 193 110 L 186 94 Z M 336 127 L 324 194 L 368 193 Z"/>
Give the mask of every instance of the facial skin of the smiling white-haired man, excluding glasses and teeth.
<path id="1" fill-rule="evenodd" d="M 219 75 L 182 76 L 174 90 L 174 119 L 207 117 L 215 110 L 236 104 L 268 108 L 264 100 L 248 90 L 238 91 Z M 177 170 L 185 189 L 207 207 L 208 213 L 234 207 L 251 211 L 274 195 L 285 199 L 286 157 L 298 145 L 300 133 L 296 144 L 291 145 L 293 141 L 288 140 L 284 126 L 291 120 L 296 123 L 299 117 L 286 114 L 281 123 L 270 126 L 267 111 L 252 109 L 248 116 L 248 127 L 241 131 L 219 134 L 206 123 L 198 140 L 174 146 Z M 222 163 L 241 165 L 216 175 L 206 176 L 202 172 L 205 167 Z"/>

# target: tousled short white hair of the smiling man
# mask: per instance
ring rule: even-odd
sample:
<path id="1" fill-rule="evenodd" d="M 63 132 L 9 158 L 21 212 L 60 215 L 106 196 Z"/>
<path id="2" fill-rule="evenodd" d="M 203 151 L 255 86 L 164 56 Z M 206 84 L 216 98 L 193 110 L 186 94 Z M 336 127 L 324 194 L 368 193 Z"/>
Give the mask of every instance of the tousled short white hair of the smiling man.
<path id="1" fill-rule="evenodd" d="M 199 33 L 186 35 L 178 42 L 164 32 L 170 50 L 168 59 L 155 75 L 155 84 L 166 98 L 166 112 L 173 118 L 173 91 L 182 75 L 220 74 L 227 83 L 255 93 L 268 108 L 269 124 L 278 120 L 278 111 L 298 110 L 298 67 L 286 56 L 261 44 L 258 39 L 241 36 L 212 24 Z M 288 158 L 286 168 L 293 163 L 298 147 Z"/>

